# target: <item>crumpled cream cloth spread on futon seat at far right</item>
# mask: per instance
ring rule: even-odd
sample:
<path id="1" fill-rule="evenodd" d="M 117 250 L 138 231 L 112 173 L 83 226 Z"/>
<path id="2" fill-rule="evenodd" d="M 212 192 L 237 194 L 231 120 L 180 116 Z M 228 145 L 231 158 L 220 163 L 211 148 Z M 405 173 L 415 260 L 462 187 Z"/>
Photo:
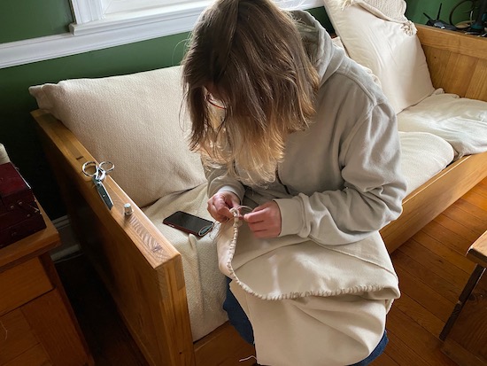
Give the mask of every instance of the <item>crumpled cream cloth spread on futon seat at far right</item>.
<path id="1" fill-rule="evenodd" d="M 487 102 L 437 92 L 398 114 L 400 131 L 422 131 L 452 144 L 455 160 L 487 151 Z"/>

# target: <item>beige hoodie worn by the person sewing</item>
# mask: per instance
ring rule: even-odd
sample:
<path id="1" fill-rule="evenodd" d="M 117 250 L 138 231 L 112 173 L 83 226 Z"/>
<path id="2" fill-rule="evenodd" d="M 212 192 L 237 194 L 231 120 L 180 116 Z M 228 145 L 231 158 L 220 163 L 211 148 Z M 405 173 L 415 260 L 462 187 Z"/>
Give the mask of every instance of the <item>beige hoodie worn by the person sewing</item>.
<path id="1" fill-rule="evenodd" d="M 307 25 L 301 33 L 312 42 L 322 75 L 315 121 L 289 137 L 274 183 L 246 187 L 214 170 L 208 174 L 208 196 L 233 191 L 248 206 L 274 199 L 282 237 L 347 244 L 402 212 L 406 180 L 396 114 L 370 75 L 333 45 L 317 20 L 307 12 L 294 15 Z"/>

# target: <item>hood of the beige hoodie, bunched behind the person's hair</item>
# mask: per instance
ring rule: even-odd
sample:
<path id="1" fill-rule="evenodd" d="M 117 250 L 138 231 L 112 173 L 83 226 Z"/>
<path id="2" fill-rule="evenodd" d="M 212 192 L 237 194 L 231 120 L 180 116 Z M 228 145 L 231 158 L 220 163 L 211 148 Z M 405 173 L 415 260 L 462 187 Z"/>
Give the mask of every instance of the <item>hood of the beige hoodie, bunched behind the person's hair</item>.
<path id="1" fill-rule="evenodd" d="M 338 68 L 348 64 L 350 59 L 345 56 L 343 49 L 333 44 L 327 30 L 313 15 L 304 11 L 290 13 L 297 22 L 306 51 L 321 75 L 322 85 Z"/>

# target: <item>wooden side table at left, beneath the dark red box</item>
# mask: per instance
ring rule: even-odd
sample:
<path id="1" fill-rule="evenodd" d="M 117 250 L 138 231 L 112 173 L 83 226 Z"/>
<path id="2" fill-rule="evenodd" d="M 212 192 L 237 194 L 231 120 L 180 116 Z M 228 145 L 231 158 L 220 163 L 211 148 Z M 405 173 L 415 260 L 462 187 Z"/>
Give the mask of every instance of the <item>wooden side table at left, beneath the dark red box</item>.
<path id="1" fill-rule="evenodd" d="M 0 249 L 0 365 L 94 365 L 50 259 L 58 230 L 46 229 Z"/>

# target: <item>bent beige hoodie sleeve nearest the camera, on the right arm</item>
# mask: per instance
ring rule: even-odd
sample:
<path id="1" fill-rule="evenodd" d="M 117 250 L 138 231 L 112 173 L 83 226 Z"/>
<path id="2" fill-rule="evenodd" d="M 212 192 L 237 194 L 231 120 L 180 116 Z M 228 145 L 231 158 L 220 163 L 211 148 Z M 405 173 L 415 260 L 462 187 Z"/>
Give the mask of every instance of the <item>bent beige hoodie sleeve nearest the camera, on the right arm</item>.
<path id="1" fill-rule="evenodd" d="M 401 214 L 406 181 L 400 169 L 396 115 L 390 107 L 375 105 L 344 139 L 341 150 L 343 190 L 274 199 L 281 210 L 281 237 L 347 244 Z"/>

